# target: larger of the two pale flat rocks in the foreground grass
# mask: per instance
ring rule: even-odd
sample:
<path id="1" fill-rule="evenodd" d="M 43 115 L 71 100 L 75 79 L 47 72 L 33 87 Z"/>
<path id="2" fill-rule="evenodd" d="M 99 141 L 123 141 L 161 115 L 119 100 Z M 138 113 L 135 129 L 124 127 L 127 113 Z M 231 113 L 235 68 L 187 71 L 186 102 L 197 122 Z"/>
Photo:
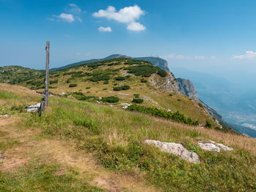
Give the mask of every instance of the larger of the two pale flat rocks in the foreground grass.
<path id="1" fill-rule="evenodd" d="M 177 144 L 174 142 L 159 142 L 155 140 L 145 140 L 144 142 L 148 145 L 153 144 L 164 152 L 177 155 L 185 161 L 191 162 L 193 164 L 200 164 L 200 159 L 197 153 L 190 152 L 181 144 Z"/>

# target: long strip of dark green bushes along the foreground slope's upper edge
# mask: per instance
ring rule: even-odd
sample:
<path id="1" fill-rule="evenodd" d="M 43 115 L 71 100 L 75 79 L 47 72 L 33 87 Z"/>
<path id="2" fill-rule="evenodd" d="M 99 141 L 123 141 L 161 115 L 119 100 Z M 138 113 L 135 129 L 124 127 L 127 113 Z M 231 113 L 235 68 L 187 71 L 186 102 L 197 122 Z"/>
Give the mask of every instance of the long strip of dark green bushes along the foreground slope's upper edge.
<path id="1" fill-rule="evenodd" d="M 178 111 L 177 112 L 167 112 L 166 110 L 159 110 L 156 107 L 143 107 L 138 104 L 130 105 L 129 107 L 127 107 L 127 110 L 143 112 L 143 113 L 147 113 L 149 115 L 175 120 L 179 123 L 185 123 L 187 125 L 192 125 L 192 126 L 198 126 L 198 124 L 199 124 L 198 120 L 192 120 L 191 118 L 186 118 L 185 115 L 183 115 L 182 113 L 180 113 Z"/>

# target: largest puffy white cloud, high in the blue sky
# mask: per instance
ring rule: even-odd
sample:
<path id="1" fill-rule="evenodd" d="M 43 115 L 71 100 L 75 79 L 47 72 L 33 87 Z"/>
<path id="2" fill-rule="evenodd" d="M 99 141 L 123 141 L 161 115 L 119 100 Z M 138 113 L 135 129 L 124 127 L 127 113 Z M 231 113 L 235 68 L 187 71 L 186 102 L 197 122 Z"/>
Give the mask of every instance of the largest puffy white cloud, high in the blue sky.
<path id="1" fill-rule="evenodd" d="M 107 9 L 99 9 L 98 12 L 94 12 L 95 18 L 107 18 L 108 20 L 116 20 L 119 23 L 126 23 L 127 29 L 131 31 L 143 31 L 145 26 L 136 22 L 140 19 L 140 16 L 145 15 L 145 11 L 140 9 L 138 5 L 124 7 L 116 10 L 113 6 L 108 6 Z"/>

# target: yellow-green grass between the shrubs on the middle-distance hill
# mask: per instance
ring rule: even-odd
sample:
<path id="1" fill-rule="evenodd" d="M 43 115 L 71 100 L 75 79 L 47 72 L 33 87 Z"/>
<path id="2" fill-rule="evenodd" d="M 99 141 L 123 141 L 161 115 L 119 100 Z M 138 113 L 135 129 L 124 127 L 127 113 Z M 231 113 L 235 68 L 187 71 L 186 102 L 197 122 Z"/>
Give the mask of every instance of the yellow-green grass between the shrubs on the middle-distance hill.
<path id="1" fill-rule="evenodd" d="M 140 79 L 143 78 L 145 80 L 148 80 L 148 77 L 136 77 L 133 74 L 127 74 L 127 71 L 122 69 L 124 67 L 127 67 L 129 65 L 124 65 L 124 61 L 121 61 L 120 65 L 117 66 L 108 66 L 108 64 L 119 62 L 118 60 L 110 61 L 109 63 L 106 63 L 103 66 L 99 66 L 97 69 L 91 69 L 90 67 L 84 67 L 84 66 L 75 66 L 69 69 L 66 69 L 64 71 L 57 71 L 53 72 L 50 75 L 50 81 L 58 80 L 57 83 L 53 83 L 50 85 L 50 92 L 60 94 L 62 92 L 67 93 L 73 93 L 73 92 L 82 92 L 86 96 L 117 96 L 120 101 L 118 104 L 113 104 L 115 107 L 118 107 L 121 109 L 123 107 L 121 103 L 131 103 L 132 99 L 134 98 L 133 94 L 138 93 L 140 94 L 140 98 L 144 99 L 144 102 L 142 105 L 147 107 L 157 107 L 164 110 L 171 110 L 173 112 L 179 111 L 187 116 L 187 118 L 192 118 L 193 120 L 199 120 L 200 123 L 205 124 L 206 119 L 209 118 L 206 110 L 203 110 L 203 108 L 200 108 L 198 104 L 195 101 L 192 101 L 191 99 L 187 98 L 187 96 L 182 96 L 180 94 L 174 93 L 173 96 L 170 96 L 169 92 L 164 90 L 159 90 L 154 88 L 149 82 L 142 83 L 140 82 Z M 143 63 L 142 63 L 143 64 Z M 113 70 L 118 70 L 118 72 L 111 72 Z M 109 70 L 111 79 L 109 80 L 109 84 L 103 84 L 104 81 L 98 81 L 98 82 L 91 82 L 91 77 L 72 77 L 72 74 L 64 75 L 64 73 L 67 72 L 107 72 Z M 23 69 L 24 71 L 24 69 Z M 21 71 L 21 72 L 23 72 Z M 118 76 L 126 76 L 131 75 L 129 79 L 124 81 L 116 81 L 114 78 Z M 57 76 L 57 77 L 55 77 Z M 159 75 L 156 75 L 157 78 L 163 79 Z M 69 82 L 67 83 L 67 80 Z M 3 81 L 3 80 L 1 80 Z M 34 88 L 35 85 L 28 84 L 28 82 L 44 82 L 43 77 L 35 78 L 34 80 L 25 80 L 23 82 L 19 82 L 19 85 L 23 85 L 29 88 Z M 71 83 L 76 83 L 78 86 L 74 88 L 69 88 L 69 85 Z M 117 85 L 115 85 L 117 84 Z M 43 85 L 43 84 L 42 84 Z M 129 85 L 131 89 L 127 91 L 113 91 L 113 87 L 118 85 Z M 40 87 L 40 86 L 39 86 Z M 87 89 L 86 89 L 87 88 Z M 43 89 L 38 89 L 39 91 L 43 91 Z M 128 95 L 124 95 L 124 94 Z M 149 99 L 147 101 L 145 98 L 146 96 Z M 215 126 L 217 126 L 214 121 L 212 122 Z"/>

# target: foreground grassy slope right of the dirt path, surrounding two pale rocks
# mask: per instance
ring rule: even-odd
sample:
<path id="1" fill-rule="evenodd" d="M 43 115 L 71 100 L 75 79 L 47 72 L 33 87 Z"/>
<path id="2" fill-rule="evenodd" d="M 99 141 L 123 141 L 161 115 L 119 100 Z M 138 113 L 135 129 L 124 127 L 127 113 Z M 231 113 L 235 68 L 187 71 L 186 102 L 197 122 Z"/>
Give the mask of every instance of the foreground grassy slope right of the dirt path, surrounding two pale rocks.
<path id="1" fill-rule="evenodd" d="M 20 98 L 1 98 L 1 113 L 20 116 L 23 120 L 20 128 L 36 127 L 42 130 L 43 136 L 75 140 L 79 150 L 93 153 L 99 164 L 107 169 L 147 180 L 162 191 L 256 190 L 255 139 L 58 97 L 50 98 L 50 106 L 42 118 L 38 118 L 18 112 L 19 105 L 39 101 L 38 96 L 28 99 L 28 90 L 19 91 L 8 86 L 2 85 L 1 91 L 9 91 Z M 162 153 L 144 145 L 144 139 L 181 143 L 200 156 L 201 164 L 190 164 Z M 222 142 L 234 150 L 215 153 L 197 147 L 197 140 L 208 139 Z M 28 175 L 33 177 L 29 172 Z M 10 181 L 5 175 L 3 178 Z"/>

